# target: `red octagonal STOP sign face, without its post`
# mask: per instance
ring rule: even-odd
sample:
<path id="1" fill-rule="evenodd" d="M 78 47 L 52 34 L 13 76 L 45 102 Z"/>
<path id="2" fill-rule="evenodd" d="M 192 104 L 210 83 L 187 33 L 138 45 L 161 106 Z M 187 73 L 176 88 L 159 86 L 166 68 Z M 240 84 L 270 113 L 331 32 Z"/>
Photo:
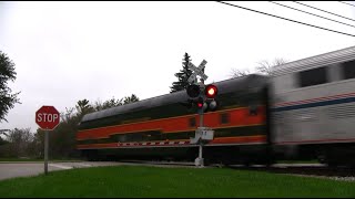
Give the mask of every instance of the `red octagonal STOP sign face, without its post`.
<path id="1" fill-rule="evenodd" d="M 42 106 L 36 112 L 36 123 L 45 130 L 54 129 L 60 121 L 60 114 L 53 106 Z"/>

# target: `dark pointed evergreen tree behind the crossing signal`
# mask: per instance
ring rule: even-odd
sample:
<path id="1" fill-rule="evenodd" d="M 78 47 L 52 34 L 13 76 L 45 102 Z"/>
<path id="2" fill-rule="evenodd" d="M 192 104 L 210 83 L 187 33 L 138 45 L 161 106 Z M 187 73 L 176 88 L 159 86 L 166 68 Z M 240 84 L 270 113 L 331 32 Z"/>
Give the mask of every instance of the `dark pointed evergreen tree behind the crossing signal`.
<path id="1" fill-rule="evenodd" d="M 184 54 L 184 59 L 182 62 L 182 70 L 179 73 L 175 73 L 178 77 L 178 82 L 173 82 L 173 85 L 170 87 L 170 93 L 185 90 L 189 85 L 189 77 L 192 74 L 192 71 L 189 69 L 189 63 L 191 62 L 190 55 L 187 53 Z"/>

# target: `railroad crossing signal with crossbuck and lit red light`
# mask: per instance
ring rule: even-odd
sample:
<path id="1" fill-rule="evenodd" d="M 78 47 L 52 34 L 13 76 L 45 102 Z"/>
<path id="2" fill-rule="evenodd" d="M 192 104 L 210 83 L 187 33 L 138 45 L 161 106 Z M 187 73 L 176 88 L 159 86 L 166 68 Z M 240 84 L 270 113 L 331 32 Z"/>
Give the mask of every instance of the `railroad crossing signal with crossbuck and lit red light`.
<path id="1" fill-rule="evenodd" d="M 203 113 L 207 111 L 215 111 L 217 108 L 217 103 L 215 97 L 219 90 L 215 85 L 209 84 L 204 85 L 204 81 L 207 80 L 207 75 L 204 74 L 204 67 L 207 62 L 203 60 L 199 67 L 189 63 L 189 69 L 194 73 L 189 77 L 190 85 L 186 88 L 189 95 L 189 102 L 197 106 L 197 113 L 200 115 L 200 127 L 195 130 L 195 137 L 190 139 L 191 144 L 199 144 L 199 157 L 195 159 L 195 165 L 203 167 L 202 158 L 202 147 L 205 143 L 213 139 L 214 130 L 203 125 Z M 197 77 L 201 76 L 200 83 L 197 83 Z"/>

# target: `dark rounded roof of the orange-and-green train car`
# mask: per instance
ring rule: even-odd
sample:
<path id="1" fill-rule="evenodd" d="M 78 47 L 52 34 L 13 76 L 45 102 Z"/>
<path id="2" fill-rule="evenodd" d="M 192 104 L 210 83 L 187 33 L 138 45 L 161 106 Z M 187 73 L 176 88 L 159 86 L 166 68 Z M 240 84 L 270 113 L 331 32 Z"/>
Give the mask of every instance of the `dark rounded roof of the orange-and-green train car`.
<path id="1" fill-rule="evenodd" d="M 267 81 L 267 78 L 268 77 L 264 75 L 251 74 L 242 77 L 234 77 L 234 78 L 216 82 L 213 84 L 217 86 L 219 94 L 224 94 L 224 93 L 230 93 L 235 91 L 248 90 L 252 87 L 255 90 L 258 90 L 263 85 L 265 85 L 265 82 Z M 87 114 L 81 119 L 81 123 L 100 119 L 104 117 L 110 117 L 119 114 L 142 111 L 145 108 L 163 106 L 163 105 L 174 104 L 179 102 L 186 102 L 187 98 L 189 96 L 185 91 L 169 93 L 165 95 L 146 98 L 135 103 Z"/>

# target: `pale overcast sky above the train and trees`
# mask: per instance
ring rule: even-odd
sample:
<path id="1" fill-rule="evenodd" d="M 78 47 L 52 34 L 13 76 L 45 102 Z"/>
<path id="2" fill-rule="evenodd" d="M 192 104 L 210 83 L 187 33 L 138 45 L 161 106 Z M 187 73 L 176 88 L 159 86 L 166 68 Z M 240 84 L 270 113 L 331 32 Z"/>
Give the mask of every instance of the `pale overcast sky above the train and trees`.
<path id="1" fill-rule="evenodd" d="M 347 1 L 349 3 L 351 2 Z M 250 9 L 355 34 L 352 27 L 267 1 L 231 2 Z M 355 25 L 355 21 L 283 1 Z M 305 1 L 355 19 L 355 7 Z M 22 104 L 1 128 L 38 128 L 42 105 L 59 112 L 79 100 L 105 101 L 136 94 L 141 100 L 170 92 L 183 54 L 206 60 L 206 83 L 230 78 L 232 69 L 262 60 L 295 61 L 355 44 L 355 38 L 263 15 L 213 1 L 199 2 L 0 2 L 0 50 L 16 63 L 10 87 Z"/>

